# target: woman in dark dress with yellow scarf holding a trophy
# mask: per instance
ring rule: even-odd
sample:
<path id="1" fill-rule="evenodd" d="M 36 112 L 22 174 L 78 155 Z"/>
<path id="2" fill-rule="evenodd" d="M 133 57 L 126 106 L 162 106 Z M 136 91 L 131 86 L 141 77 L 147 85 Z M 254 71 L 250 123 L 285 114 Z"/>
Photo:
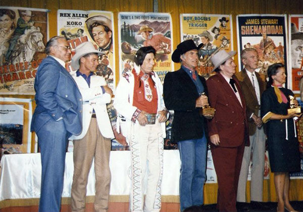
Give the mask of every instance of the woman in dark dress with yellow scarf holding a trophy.
<path id="1" fill-rule="evenodd" d="M 300 171 L 300 158 L 295 119 L 301 115 L 287 114 L 292 91 L 283 88 L 286 75 L 284 65 L 275 63 L 268 67 L 267 90 L 262 95 L 261 115 L 266 124 L 271 172 L 278 196 L 277 211 L 295 211 L 289 203 L 289 172 Z M 295 105 L 298 103 L 295 100 Z"/>

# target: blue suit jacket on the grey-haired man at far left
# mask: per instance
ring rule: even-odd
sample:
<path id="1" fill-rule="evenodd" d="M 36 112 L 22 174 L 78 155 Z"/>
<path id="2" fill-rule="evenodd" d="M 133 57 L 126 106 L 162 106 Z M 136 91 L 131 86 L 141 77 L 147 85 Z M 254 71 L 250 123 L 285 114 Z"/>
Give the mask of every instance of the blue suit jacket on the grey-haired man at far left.
<path id="1" fill-rule="evenodd" d="M 37 106 L 31 131 L 38 132 L 47 121 L 63 117 L 67 132 L 74 135 L 81 133 L 81 93 L 70 73 L 53 57 L 46 57 L 39 65 L 34 89 Z"/>

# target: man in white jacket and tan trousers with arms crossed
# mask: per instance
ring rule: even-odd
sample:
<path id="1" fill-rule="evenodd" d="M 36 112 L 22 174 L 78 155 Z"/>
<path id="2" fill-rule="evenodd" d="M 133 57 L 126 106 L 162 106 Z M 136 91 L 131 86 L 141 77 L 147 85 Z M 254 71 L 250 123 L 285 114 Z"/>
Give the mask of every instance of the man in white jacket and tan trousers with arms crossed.
<path id="1" fill-rule="evenodd" d="M 88 173 L 94 158 L 95 211 L 107 211 L 110 196 L 109 167 L 111 138 L 114 133 L 106 104 L 113 95 L 102 76 L 94 75 L 98 56 L 90 42 L 76 48 L 72 59 L 72 73 L 83 99 L 83 130 L 74 140 L 74 177 L 72 184 L 72 211 L 84 211 Z"/>

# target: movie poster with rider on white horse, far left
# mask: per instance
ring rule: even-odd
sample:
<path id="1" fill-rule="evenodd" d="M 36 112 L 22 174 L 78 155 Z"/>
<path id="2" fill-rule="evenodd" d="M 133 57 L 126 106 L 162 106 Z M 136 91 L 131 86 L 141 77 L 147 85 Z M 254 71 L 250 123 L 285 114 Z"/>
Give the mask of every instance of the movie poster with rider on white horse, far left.
<path id="1" fill-rule="evenodd" d="M 47 10 L 0 7 L 0 94 L 33 95 L 48 39 Z"/>

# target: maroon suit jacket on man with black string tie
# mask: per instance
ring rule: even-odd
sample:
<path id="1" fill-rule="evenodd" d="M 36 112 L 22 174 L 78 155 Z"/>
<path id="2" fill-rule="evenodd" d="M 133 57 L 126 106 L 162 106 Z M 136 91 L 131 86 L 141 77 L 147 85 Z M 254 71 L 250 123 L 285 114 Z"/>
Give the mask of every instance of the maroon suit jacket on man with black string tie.
<path id="1" fill-rule="evenodd" d="M 209 136 L 218 134 L 221 147 L 237 147 L 245 142 L 249 146 L 246 106 L 240 85 L 235 76 L 242 106 L 225 78 L 217 73 L 207 81 L 209 101 L 216 109 L 215 116 L 208 122 Z"/>

